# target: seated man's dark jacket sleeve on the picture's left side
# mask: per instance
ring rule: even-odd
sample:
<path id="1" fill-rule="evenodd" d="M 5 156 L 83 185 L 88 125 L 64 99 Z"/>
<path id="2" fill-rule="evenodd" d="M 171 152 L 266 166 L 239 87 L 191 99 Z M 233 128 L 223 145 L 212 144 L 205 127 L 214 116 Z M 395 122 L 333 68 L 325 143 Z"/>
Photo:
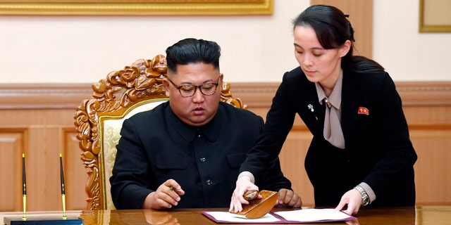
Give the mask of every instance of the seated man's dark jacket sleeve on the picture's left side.
<path id="1" fill-rule="evenodd" d="M 111 198 L 116 209 L 140 209 L 149 193 L 147 184 L 147 158 L 140 146 L 140 135 L 130 120 L 123 122 L 121 139 L 116 146 L 116 162 L 113 167 Z"/>

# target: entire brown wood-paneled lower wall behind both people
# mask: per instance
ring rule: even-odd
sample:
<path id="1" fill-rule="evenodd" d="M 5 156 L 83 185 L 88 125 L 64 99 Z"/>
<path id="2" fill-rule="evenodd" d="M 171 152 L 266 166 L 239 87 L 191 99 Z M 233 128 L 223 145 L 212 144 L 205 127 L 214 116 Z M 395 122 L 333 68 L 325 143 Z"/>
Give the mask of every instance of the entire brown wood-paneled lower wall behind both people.
<path id="1" fill-rule="evenodd" d="M 276 83 L 236 83 L 240 97 L 262 117 L 271 106 Z M 397 82 L 404 113 L 419 160 L 418 205 L 451 205 L 451 82 Z M 89 84 L 0 84 L 0 211 L 22 210 L 22 163 L 27 168 L 27 210 L 61 210 L 59 153 L 63 154 L 68 210 L 86 207 L 87 169 L 75 139 L 73 115 Z M 297 117 L 280 160 L 304 205 L 314 205 L 313 188 L 304 170 L 311 134 Z"/>

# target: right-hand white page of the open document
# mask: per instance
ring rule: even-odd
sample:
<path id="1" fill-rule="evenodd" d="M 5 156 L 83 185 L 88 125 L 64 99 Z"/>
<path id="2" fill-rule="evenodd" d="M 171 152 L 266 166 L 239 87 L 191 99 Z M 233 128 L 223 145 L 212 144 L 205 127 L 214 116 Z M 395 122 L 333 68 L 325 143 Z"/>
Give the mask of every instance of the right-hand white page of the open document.
<path id="1" fill-rule="evenodd" d="M 279 216 L 290 221 L 321 221 L 321 220 L 342 220 L 350 217 L 344 212 L 334 209 L 305 209 L 294 211 L 275 212 Z"/>

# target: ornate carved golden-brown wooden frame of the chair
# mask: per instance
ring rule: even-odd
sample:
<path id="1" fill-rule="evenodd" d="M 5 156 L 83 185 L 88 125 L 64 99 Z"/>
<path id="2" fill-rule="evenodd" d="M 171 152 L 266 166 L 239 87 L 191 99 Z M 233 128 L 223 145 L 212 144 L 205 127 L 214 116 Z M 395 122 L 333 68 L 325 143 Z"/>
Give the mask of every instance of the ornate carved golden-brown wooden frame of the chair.
<path id="1" fill-rule="evenodd" d="M 101 117 L 119 117 L 133 105 L 152 99 L 166 99 L 161 80 L 166 77 L 166 57 L 136 60 L 123 70 L 110 72 L 106 79 L 92 85 L 92 98 L 85 99 L 74 115 L 77 139 L 82 150 L 81 160 L 88 169 L 86 185 L 87 208 L 104 210 L 105 183 L 101 143 Z M 236 108 L 247 108 L 240 98 L 230 94 L 230 84 L 223 82 L 221 101 Z"/>

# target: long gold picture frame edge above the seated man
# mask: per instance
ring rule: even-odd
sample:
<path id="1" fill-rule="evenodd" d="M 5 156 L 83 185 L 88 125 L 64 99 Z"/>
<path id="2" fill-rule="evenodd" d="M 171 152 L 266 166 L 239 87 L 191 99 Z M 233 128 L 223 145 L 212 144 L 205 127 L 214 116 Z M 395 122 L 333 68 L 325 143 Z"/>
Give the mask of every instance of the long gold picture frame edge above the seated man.
<path id="1" fill-rule="evenodd" d="M 273 0 L 0 0 L 0 15 L 270 15 Z"/>

